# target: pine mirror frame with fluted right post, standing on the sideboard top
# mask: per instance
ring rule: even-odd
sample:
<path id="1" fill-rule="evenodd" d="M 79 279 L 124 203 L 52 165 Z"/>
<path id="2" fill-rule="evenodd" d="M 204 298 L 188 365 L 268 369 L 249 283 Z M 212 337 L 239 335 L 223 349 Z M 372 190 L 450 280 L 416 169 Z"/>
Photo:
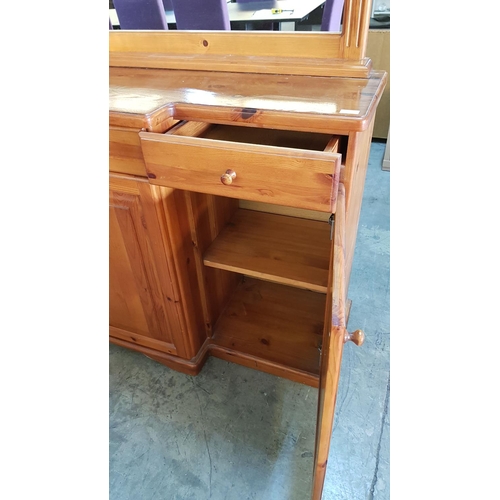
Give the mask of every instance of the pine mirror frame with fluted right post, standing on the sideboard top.
<path id="1" fill-rule="evenodd" d="M 110 67 L 367 78 L 372 0 L 345 0 L 341 33 L 109 32 Z"/>

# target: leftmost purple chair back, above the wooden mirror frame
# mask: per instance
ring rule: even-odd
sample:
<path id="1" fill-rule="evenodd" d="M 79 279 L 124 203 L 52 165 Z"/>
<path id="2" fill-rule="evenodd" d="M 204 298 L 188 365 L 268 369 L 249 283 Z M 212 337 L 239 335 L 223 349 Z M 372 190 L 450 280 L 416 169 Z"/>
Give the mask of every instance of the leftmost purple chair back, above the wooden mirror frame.
<path id="1" fill-rule="evenodd" d="M 122 30 L 168 30 L 162 0 L 113 0 Z"/>

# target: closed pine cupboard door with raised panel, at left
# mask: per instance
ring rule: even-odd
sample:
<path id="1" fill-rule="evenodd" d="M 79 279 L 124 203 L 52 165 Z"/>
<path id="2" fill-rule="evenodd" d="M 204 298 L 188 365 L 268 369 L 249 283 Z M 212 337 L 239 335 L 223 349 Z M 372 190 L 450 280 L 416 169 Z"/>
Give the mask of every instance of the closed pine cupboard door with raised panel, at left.
<path id="1" fill-rule="evenodd" d="M 111 339 L 186 356 L 158 201 L 146 179 L 110 175 Z"/>

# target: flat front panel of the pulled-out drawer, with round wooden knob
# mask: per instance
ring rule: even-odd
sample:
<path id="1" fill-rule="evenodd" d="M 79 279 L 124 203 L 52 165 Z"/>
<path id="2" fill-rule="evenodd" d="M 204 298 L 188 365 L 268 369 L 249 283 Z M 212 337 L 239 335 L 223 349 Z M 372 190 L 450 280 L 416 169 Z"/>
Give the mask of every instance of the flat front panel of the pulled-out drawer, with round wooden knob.
<path id="1" fill-rule="evenodd" d="M 341 155 L 141 132 L 152 184 L 335 212 Z"/>

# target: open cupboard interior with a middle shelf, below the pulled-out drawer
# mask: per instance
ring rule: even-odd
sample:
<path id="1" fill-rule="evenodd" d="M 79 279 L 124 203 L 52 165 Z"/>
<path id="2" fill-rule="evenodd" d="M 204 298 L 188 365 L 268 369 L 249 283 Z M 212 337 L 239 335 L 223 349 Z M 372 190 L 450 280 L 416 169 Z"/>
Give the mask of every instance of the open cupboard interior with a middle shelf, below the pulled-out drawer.
<path id="1" fill-rule="evenodd" d="M 317 387 L 331 261 L 328 222 L 189 196 L 207 207 L 217 228 L 200 253 L 212 354 Z"/>

